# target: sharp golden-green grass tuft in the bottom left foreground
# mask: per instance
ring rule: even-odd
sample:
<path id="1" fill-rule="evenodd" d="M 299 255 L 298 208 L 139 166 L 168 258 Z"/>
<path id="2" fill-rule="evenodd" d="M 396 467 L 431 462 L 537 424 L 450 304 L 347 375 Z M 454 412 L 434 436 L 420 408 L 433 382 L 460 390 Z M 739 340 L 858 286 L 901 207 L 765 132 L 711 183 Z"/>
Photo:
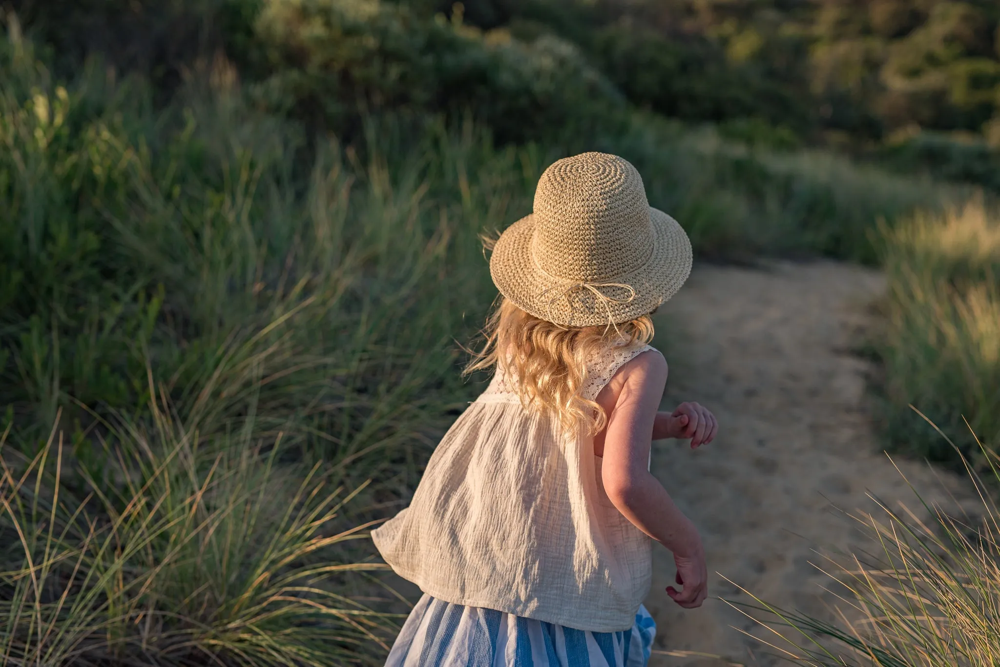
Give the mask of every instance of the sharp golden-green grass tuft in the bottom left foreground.
<path id="1" fill-rule="evenodd" d="M 32 459 L 0 443 L 3 662 L 378 664 L 390 617 L 350 577 L 385 566 L 345 561 L 368 526 L 341 516 L 364 487 L 281 463 L 280 434 L 154 418 L 99 438 L 116 480 L 70 467 L 55 430 Z"/>

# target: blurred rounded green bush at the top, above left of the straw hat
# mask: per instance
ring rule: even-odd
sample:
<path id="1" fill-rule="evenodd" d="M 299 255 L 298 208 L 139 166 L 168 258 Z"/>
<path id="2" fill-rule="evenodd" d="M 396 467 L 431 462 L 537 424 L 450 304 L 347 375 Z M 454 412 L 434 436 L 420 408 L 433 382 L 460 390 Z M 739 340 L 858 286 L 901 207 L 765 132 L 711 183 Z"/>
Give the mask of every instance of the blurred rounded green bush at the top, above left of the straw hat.
<path id="1" fill-rule="evenodd" d="M 266 2 L 256 40 L 235 54 L 258 99 L 349 131 L 360 111 L 469 111 L 501 142 L 596 129 L 622 106 L 575 46 L 530 43 L 378 0 Z"/>

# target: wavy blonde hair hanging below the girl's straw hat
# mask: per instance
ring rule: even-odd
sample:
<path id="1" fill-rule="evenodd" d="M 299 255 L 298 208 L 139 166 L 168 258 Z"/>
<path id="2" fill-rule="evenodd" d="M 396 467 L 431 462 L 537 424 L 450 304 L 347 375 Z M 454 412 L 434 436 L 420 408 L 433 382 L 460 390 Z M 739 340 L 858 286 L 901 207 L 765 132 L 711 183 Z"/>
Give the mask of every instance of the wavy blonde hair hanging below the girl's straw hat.
<path id="1" fill-rule="evenodd" d="M 522 405 L 541 414 L 551 414 L 565 428 L 582 426 L 587 433 L 600 432 L 607 415 L 596 401 L 583 398 L 586 361 L 597 350 L 618 338 L 646 344 L 653 339 L 649 314 L 615 326 L 565 327 L 547 322 L 518 308 L 501 296 L 486 320 L 479 351 L 464 373 L 496 366 L 507 377 L 517 378 Z"/>

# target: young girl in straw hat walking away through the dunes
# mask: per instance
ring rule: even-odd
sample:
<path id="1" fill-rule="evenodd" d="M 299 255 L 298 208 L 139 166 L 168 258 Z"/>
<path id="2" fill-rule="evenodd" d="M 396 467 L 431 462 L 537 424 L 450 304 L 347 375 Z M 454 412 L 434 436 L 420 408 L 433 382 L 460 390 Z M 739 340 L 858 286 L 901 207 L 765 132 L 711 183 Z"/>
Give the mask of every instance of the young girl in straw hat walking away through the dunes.
<path id="1" fill-rule="evenodd" d="M 717 430 L 697 403 L 657 412 L 650 314 L 690 270 L 687 235 L 631 164 L 584 153 L 545 170 L 490 258 L 502 296 L 467 371 L 493 379 L 372 531 L 424 592 L 387 665 L 645 665 L 651 540 L 674 554 L 683 588 L 667 594 L 701 605 L 698 531 L 649 473 L 652 440 Z"/>

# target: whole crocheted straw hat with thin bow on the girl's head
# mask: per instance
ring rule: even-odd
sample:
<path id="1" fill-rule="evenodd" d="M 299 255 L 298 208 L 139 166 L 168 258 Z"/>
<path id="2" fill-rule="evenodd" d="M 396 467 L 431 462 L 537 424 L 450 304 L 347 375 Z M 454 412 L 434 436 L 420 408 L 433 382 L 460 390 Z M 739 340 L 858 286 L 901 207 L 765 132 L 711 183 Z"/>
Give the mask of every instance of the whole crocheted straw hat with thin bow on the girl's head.
<path id="1" fill-rule="evenodd" d="M 535 317 L 563 326 L 619 324 L 672 297 L 691 273 L 691 243 L 650 207 L 617 155 L 582 153 L 538 181 L 534 212 L 497 240 L 490 275 Z"/>

